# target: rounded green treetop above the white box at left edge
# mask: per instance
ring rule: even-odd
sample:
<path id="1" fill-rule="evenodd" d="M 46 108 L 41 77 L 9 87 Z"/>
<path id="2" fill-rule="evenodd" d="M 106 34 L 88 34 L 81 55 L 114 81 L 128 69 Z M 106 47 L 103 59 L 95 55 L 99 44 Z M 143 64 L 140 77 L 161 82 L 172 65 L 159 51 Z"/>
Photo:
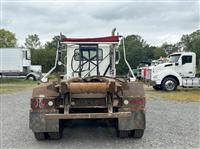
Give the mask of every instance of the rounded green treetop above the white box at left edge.
<path id="1" fill-rule="evenodd" d="M 17 39 L 14 33 L 5 29 L 0 29 L 0 48 L 16 47 L 16 44 Z"/>

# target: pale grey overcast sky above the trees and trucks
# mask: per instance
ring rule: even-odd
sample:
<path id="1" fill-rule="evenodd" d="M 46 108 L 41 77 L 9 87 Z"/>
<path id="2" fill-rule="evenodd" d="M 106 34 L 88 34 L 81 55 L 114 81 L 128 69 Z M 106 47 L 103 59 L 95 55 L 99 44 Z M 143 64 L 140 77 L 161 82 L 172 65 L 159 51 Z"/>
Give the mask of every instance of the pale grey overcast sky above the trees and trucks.
<path id="1" fill-rule="evenodd" d="M 62 32 L 67 37 L 138 34 L 151 45 L 178 42 L 200 28 L 199 1 L 34 1 L 1 2 L 1 27 L 16 34 L 19 45 L 28 34 L 42 43 Z"/>

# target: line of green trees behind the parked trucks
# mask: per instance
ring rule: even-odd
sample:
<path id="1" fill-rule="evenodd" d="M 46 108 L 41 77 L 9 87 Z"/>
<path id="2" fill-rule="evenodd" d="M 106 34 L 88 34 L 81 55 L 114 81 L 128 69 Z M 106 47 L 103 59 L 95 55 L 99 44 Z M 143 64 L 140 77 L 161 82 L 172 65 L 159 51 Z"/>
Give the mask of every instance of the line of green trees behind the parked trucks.
<path id="1" fill-rule="evenodd" d="M 37 34 L 28 35 L 24 41 L 23 47 L 31 50 L 32 64 L 42 65 L 43 72 L 47 72 L 54 65 L 58 37 L 54 36 L 51 41 L 47 41 L 44 45 L 41 45 Z M 0 48 L 9 47 L 19 47 L 15 33 L 0 29 Z M 151 46 L 139 35 L 128 35 L 125 37 L 125 47 L 127 60 L 132 68 L 136 68 L 140 62 L 150 62 L 160 57 L 166 57 L 168 54 L 181 49 L 196 53 L 197 66 L 200 69 L 200 30 L 182 35 L 178 43 L 169 44 L 165 42 L 161 46 Z M 120 42 L 119 51 L 122 55 L 122 42 Z M 58 68 L 58 70 L 60 69 Z M 117 65 L 117 74 L 123 75 L 127 72 L 128 68 L 121 58 Z"/>

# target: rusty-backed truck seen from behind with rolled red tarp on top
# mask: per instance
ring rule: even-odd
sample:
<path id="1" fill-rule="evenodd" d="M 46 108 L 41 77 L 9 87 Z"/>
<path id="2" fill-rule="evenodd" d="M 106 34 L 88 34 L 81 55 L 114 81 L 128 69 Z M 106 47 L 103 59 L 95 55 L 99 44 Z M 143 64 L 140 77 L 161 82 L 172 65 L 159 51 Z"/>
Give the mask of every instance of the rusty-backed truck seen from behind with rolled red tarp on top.
<path id="1" fill-rule="evenodd" d="M 63 123 L 74 119 L 107 119 L 115 122 L 119 137 L 141 138 L 145 129 L 145 94 L 143 86 L 132 79 L 116 77 L 116 56 L 121 36 L 66 38 L 60 36 L 59 53 L 67 47 L 66 74 L 61 81 L 42 83 L 33 89 L 30 129 L 37 140 L 59 139 Z M 124 40 L 122 38 L 122 42 Z M 65 46 L 64 46 L 65 45 Z M 131 70 L 125 56 L 124 60 Z"/>

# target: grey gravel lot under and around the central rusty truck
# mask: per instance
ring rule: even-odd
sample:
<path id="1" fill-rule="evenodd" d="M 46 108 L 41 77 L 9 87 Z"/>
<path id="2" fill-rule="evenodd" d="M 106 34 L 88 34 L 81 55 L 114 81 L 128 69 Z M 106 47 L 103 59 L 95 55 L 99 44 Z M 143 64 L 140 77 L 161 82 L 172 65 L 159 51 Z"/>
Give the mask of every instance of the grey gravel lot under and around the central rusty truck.
<path id="1" fill-rule="evenodd" d="M 200 104 L 147 101 L 147 128 L 139 140 L 119 139 L 103 125 L 65 128 L 58 141 L 36 141 L 28 127 L 31 91 L 0 94 L 1 148 L 200 148 Z"/>

